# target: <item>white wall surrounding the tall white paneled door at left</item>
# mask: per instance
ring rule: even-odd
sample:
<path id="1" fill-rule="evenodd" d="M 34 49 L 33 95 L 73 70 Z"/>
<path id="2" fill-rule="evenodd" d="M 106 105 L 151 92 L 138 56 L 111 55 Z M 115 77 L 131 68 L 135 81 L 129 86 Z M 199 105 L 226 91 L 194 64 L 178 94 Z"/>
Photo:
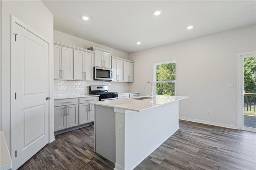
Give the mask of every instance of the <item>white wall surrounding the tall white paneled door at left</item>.
<path id="1" fill-rule="evenodd" d="M 11 15 L 24 22 L 50 43 L 50 67 L 53 67 L 53 15 L 41 1 L 2 2 L 2 130 L 10 149 L 10 35 Z M 50 71 L 51 73 L 52 71 Z M 53 73 L 50 78 L 53 77 Z M 53 95 L 53 81 L 50 81 L 50 95 Z M 50 101 L 50 117 L 53 118 L 53 100 Z M 53 120 L 53 119 L 52 119 Z M 50 122 L 51 124 L 52 122 Z M 53 123 L 52 123 L 53 125 Z M 52 127 L 53 128 L 53 127 Z"/>

